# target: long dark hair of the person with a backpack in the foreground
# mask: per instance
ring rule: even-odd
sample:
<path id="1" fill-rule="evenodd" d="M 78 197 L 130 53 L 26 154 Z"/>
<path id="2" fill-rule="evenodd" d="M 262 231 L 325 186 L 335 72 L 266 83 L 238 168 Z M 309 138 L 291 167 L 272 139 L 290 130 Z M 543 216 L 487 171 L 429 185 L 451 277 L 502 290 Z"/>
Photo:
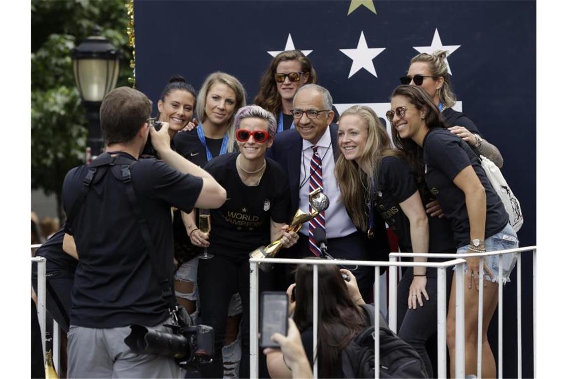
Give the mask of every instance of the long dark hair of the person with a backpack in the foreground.
<path id="1" fill-rule="evenodd" d="M 295 278 L 294 322 L 300 332 L 303 332 L 312 326 L 313 321 L 312 265 L 299 264 Z M 366 325 L 366 317 L 350 297 L 339 268 L 336 265 L 318 265 L 317 357 L 321 377 L 337 377 L 333 369 L 339 364 L 341 351 L 365 329 Z"/>

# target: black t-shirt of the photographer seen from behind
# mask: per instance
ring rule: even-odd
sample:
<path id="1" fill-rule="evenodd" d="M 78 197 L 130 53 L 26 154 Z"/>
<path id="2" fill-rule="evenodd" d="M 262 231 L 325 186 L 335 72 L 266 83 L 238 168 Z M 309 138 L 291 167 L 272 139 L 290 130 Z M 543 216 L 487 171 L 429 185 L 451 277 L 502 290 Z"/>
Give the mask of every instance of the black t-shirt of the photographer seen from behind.
<path id="1" fill-rule="evenodd" d="M 132 156 L 119 153 L 122 156 Z M 70 170 L 63 184 L 67 213 L 83 186 L 88 166 Z M 133 214 L 120 166 L 98 168 L 80 209 L 65 223 L 80 256 L 72 293 L 70 324 L 113 328 L 130 324 L 156 325 L 168 318 L 157 274 Z M 170 207 L 191 211 L 203 180 L 182 174 L 149 158 L 131 168 L 132 187 L 148 224 L 159 259 L 173 275 L 173 237 Z"/>

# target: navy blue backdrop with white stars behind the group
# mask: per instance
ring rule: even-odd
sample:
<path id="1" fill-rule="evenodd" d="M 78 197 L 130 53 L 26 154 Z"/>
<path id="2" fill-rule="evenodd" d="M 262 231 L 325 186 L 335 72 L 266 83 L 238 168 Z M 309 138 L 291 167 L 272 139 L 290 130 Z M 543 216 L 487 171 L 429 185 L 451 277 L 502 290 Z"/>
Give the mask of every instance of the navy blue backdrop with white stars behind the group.
<path id="1" fill-rule="evenodd" d="M 458 109 L 499 147 L 502 172 L 536 244 L 536 2 L 135 1 L 136 86 L 154 103 L 172 74 L 199 89 L 222 70 L 248 102 L 272 56 L 290 43 L 308 55 L 339 111 L 389 95 L 419 51 L 442 45 Z M 364 38 L 364 41 L 362 40 Z M 366 44 L 366 45 L 365 45 Z M 286 47 L 286 48 L 285 48 Z M 343 52 L 341 50 L 344 50 Z M 353 51 L 358 55 L 353 58 Z M 155 106 L 154 106 L 155 109 Z M 523 377 L 532 377 L 532 260 L 523 261 Z M 504 375 L 516 376 L 516 272 L 504 299 Z M 496 315 L 490 328 L 496 352 Z"/>

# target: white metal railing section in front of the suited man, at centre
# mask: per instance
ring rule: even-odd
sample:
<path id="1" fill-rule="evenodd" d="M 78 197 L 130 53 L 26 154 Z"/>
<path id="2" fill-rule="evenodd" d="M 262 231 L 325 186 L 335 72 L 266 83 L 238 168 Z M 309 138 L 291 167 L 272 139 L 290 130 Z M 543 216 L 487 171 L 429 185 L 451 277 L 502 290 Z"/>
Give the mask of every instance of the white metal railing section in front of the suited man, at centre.
<path id="1" fill-rule="evenodd" d="M 307 260 L 307 259 L 276 259 L 276 258 L 266 258 L 266 259 L 249 259 L 250 263 L 250 378 L 258 378 L 258 263 L 271 263 L 271 264 L 310 264 L 314 266 L 314 367 L 313 373 L 314 378 L 318 377 L 318 362 L 317 362 L 317 340 L 318 340 L 318 319 L 316 317 L 318 309 L 318 265 L 358 265 L 358 266 L 374 266 L 375 268 L 375 284 L 374 284 L 374 305 L 375 305 L 375 378 L 379 378 L 379 304 L 380 304 L 380 281 L 379 281 L 379 270 L 381 266 L 390 266 L 391 269 L 396 267 L 435 267 L 437 268 L 438 276 L 438 298 L 446 298 L 446 268 L 450 266 L 457 265 L 458 269 L 456 274 L 458 279 L 461 278 L 461 283 L 463 287 L 463 268 L 465 265 L 464 259 L 454 259 L 446 262 L 395 262 L 395 261 L 351 261 L 351 260 Z M 392 283 L 392 282 L 391 282 Z M 396 284 L 394 285 L 396 288 Z M 462 289 L 463 293 L 463 289 Z M 392 305 L 392 299 L 389 299 Z M 461 303 L 460 303 L 461 301 Z M 461 300 L 456 301 L 456 309 L 460 309 L 461 312 L 458 313 L 463 323 L 463 297 Z M 395 306 L 396 309 L 396 299 Z M 446 302 L 438 301 L 438 376 L 444 378 L 446 377 Z M 392 307 L 391 307 L 392 310 Z M 390 310 L 390 311 L 391 311 Z M 389 315 L 390 315 L 389 311 Z M 443 325 L 443 327 L 439 327 Z M 463 326 L 463 324 L 462 324 Z M 396 317 L 394 327 L 392 322 L 389 322 L 389 327 L 396 332 Z M 463 330 L 463 327 L 462 327 Z M 458 352 L 463 352 L 465 350 L 463 332 L 462 339 L 456 342 L 456 359 L 462 359 L 463 356 L 458 354 Z M 441 353 L 443 352 L 443 353 Z M 458 355 L 460 357 L 458 357 Z M 463 377 L 463 376 L 462 376 Z"/>

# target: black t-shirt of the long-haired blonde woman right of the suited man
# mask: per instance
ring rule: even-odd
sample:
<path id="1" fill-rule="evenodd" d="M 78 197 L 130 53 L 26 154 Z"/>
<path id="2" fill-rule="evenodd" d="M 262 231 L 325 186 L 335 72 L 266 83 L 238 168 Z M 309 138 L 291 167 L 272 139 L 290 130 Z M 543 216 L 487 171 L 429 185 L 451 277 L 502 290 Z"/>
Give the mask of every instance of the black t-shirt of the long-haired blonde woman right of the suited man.
<path id="1" fill-rule="evenodd" d="M 398 236 L 400 251 L 412 252 L 410 222 L 400 208 L 400 203 L 418 190 L 410 164 L 399 157 L 384 157 L 375 176 L 375 184 L 375 209 Z M 428 252 L 450 252 L 456 248 L 447 219 L 428 217 L 428 234 Z"/>

